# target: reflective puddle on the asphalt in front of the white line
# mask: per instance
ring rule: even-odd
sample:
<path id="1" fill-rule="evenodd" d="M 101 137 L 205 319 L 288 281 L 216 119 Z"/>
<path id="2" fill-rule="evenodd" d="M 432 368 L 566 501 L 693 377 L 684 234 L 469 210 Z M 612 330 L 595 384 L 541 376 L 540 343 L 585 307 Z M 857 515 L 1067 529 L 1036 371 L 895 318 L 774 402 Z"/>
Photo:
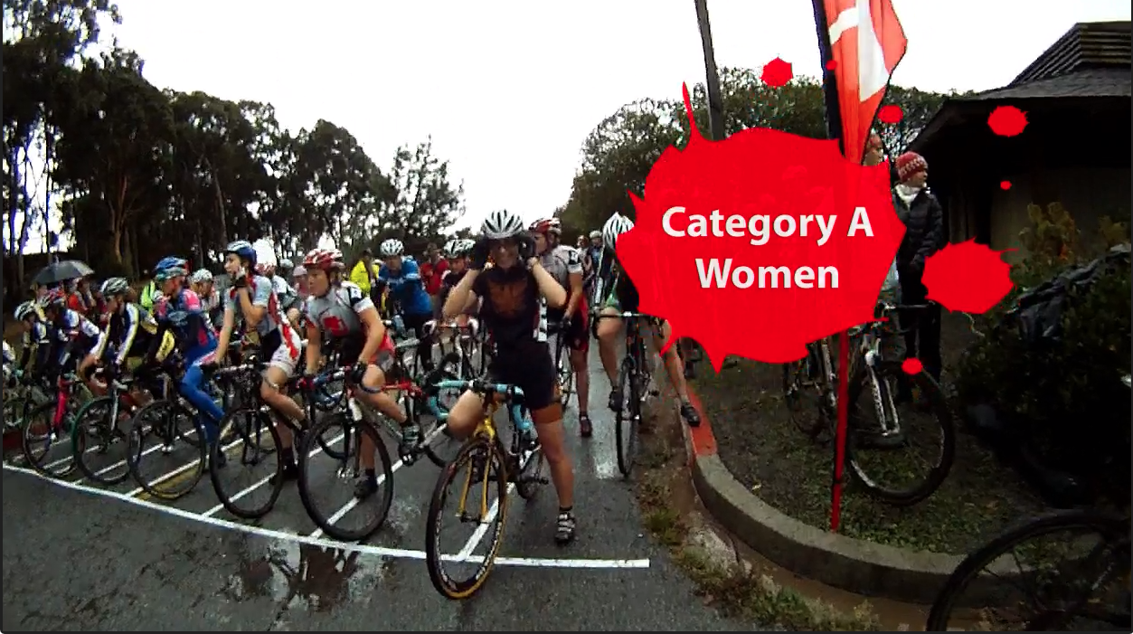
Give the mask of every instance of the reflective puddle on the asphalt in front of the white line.
<path id="1" fill-rule="evenodd" d="M 350 601 L 366 602 L 389 581 L 393 559 L 363 557 L 341 548 L 322 548 L 262 538 L 236 540 L 237 569 L 222 593 L 233 601 L 266 598 L 281 610 L 326 612 Z"/>

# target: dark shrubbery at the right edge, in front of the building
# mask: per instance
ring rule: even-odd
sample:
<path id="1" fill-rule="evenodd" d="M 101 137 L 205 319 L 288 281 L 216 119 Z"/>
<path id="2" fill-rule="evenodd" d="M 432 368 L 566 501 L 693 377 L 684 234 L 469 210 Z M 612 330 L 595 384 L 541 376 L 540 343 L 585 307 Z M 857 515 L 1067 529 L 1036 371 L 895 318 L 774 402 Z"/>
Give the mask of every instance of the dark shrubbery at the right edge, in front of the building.
<path id="1" fill-rule="evenodd" d="M 1087 476 L 1097 488 L 1128 499 L 1133 311 L 1128 264 L 1111 267 L 1088 289 L 1072 289 L 1056 341 L 1028 344 L 1004 313 L 1019 295 L 1100 253 L 1081 247 L 1071 214 L 1059 204 L 1029 208 L 1032 226 L 1020 234 L 1026 253 L 1013 267 L 1015 290 L 980 321 L 986 338 L 957 367 L 961 404 L 988 403 L 1022 429 L 1049 466 Z M 1096 244 L 1128 244 L 1128 228 L 1105 218 Z M 998 326 L 998 327 L 997 327 Z M 1107 458 L 1108 457 L 1108 458 Z"/>

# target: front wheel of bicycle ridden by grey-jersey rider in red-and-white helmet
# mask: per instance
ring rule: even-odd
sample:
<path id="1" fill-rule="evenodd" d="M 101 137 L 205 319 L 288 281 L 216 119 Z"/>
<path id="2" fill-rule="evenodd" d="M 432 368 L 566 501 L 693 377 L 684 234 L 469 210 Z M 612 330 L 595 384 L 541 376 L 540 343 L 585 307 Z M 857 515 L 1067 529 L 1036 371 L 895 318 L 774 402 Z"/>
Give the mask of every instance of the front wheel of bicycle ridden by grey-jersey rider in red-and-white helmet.
<path id="1" fill-rule="evenodd" d="M 316 438 L 335 438 L 342 434 L 343 451 L 340 455 L 349 454 L 343 459 L 334 457 L 337 465 L 322 463 L 315 466 L 315 458 L 318 451 L 315 448 Z M 326 489 L 338 484 L 343 477 L 357 477 L 361 473 L 361 439 L 366 437 L 374 443 L 376 457 L 374 471 L 377 475 L 378 490 L 366 500 L 359 501 L 353 497 L 352 491 L 344 497 L 335 497 L 326 493 Z M 330 456 L 330 454 L 327 454 Z M 338 467 L 338 468 L 335 468 Z M 351 482 L 351 489 L 352 489 Z M 326 416 L 316 423 L 310 431 L 304 436 L 303 446 L 299 449 L 299 499 L 303 507 L 307 509 L 310 519 L 327 535 L 341 541 L 359 541 L 374 534 L 390 513 L 393 504 L 393 464 L 390 453 L 385 448 L 385 442 L 378 436 L 377 430 L 367 422 L 355 423 L 346 414 L 334 414 Z M 346 499 L 346 504 L 342 504 Z M 375 500 L 376 499 L 376 500 Z M 374 504 L 376 501 L 376 504 Z M 363 513 L 358 507 L 365 506 L 369 512 Z M 366 515 L 367 518 L 359 526 L 351 527 L 353 522 L 344 522 L 347 517 Z"/>

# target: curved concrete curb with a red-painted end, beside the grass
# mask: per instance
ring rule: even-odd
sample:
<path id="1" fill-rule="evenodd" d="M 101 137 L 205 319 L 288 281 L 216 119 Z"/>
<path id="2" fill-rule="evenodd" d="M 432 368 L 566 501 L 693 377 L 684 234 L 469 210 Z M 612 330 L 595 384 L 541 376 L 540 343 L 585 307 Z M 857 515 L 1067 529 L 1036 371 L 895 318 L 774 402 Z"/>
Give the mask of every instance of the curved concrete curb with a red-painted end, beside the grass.
<path id="1" fill-rule="evenodd" d="M 760 500 L 716 454 L 716 438 L 700 399 L 700 425 L 681 424 L 692 484 L 705 508 L 732 534 L 783 568 L 869 597 L 931 605 L 962 557 L 912 551 L 830 533 Z"/>

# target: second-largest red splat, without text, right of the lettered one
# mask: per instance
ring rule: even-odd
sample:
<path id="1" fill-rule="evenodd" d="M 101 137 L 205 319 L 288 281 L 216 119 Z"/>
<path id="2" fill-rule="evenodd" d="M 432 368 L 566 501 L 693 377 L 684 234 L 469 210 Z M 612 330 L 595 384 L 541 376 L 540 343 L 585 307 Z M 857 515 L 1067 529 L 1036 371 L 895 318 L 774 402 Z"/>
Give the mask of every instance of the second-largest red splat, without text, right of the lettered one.
<path id="1" fill-rule="evenodd" d="M 945 246 L 925 262 L 921 282 L 928 298 L 949 311 L 990 311 L 1014 286 L 1003 253 L 976 244 L 974 238 Z"/>

